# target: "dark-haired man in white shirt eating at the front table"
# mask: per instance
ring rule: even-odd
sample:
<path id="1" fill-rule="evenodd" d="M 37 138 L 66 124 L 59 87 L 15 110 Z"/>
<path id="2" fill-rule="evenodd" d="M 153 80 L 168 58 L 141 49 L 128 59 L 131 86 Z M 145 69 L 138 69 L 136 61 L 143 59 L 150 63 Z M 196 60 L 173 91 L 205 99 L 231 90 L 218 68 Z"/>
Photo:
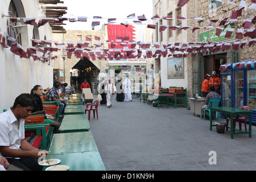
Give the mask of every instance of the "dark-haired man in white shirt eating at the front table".
<path id="1" fill-rule="evenodd" d="M 25 138 L 24 119 L 31 115 L 33 98 L 30 94 L 20 94 L 12 108 L 0 114 L 0 155 L 9 164 L 25 171 L 42 171 L 38 164 L 38 148 L 31 146 Z"/>

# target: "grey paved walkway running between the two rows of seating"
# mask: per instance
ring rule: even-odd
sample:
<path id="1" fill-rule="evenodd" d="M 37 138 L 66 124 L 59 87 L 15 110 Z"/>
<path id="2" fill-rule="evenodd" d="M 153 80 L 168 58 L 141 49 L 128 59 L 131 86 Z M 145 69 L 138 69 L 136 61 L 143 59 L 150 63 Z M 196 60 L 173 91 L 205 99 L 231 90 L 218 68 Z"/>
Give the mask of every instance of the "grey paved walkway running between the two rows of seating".
<path id="1" fill-rule="evenodd" d="M 256 169 L 255 126 L 252 138 L 241 134 L 231 139 L 230 130 L 210 131 L 209 120 L 193 116 L 187 108 L 158 109 L 137 97 L 132 102 L 113 99 L 112 105 L 99 105 L 99 119 L 91 116 L 89 121 L 109 171 Z M 217 164 L 209 164 L 210 151 L 216 152 Z"/>

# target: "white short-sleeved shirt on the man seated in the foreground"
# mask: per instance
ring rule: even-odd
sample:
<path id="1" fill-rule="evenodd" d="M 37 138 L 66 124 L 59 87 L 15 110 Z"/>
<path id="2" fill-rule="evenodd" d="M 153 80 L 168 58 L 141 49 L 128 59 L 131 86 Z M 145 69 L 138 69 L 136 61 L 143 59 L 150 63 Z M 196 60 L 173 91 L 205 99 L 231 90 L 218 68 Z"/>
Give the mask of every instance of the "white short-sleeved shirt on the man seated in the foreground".
<path id="1" fill-rule="evenodd" d="M 25 138 L 24 131 L 24 119 L 18 121 L 11 109 L 0 114 L 0 146 L 19 150 L 20 140 Z"/>

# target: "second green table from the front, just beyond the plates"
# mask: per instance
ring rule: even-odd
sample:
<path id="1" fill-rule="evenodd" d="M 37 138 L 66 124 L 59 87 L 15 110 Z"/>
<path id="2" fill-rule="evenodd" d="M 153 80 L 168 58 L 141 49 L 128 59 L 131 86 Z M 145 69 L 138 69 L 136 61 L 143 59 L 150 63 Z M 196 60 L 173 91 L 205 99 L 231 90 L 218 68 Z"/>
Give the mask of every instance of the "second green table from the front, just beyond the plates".
<path id="1" fill-rule="evenodd" d="M 54 134 L 49 147 L 52 154 L 98 151 L 90 131 Z"/>

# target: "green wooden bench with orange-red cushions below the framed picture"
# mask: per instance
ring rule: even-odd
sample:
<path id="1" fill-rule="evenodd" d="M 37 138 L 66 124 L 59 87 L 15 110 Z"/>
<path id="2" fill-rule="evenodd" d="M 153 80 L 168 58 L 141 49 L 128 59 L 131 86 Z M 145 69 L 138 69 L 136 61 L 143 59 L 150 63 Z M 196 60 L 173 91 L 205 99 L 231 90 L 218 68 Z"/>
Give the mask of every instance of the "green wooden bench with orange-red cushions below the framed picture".
<path id="1" fill-rule="evenodd" d="M 175 108 L 177 108 L 177 106 L 187 107 L 187 88 L 170 87 L 168 93 L 161 91 L 160 94 L 170 97 L 167 101 L 162 101 L 163 103 L 167 103 L 167 105 L 174 105 Z M 184 103 L 178 103 L 178 100 L 183 100 Z"/>

